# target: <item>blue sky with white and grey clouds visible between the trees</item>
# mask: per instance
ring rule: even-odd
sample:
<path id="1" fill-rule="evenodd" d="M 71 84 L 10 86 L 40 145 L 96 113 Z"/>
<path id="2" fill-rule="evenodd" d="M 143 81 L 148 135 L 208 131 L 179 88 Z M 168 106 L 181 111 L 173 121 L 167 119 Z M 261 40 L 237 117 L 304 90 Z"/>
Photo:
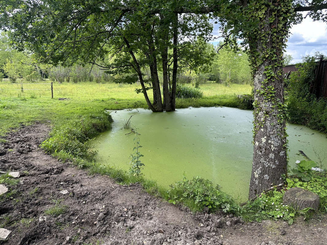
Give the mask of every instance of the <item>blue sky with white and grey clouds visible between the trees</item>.
<path id="1" fill-rule="evenodd" d="M 317 51 L 327 56 L 327 23 L 307 17 L 300 24 L 292 26 L 290 32 L 286 54 L 293 57 L 292 64 L 301 62 L 303 56 L 314 56 Z M 219 24 L 214 25 L 213 35 L 219 36 Z M 212 43 L 216 45 L 217 41 Z"/>

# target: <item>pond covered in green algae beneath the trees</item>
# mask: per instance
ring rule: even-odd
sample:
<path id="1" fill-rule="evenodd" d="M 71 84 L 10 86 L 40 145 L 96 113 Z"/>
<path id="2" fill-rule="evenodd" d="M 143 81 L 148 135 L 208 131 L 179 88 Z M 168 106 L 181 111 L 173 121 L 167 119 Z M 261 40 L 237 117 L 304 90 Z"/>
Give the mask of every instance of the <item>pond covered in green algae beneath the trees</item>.
<path id="1" fill-rule="evenodd" d="M 112 130 L 94 141 L 97 162 L 129 169 L 135 135 L 123 129 L 131 115 L 131 128 L 138 128 L 146 178 L 169 186 L 180 181 L 183 171 L 188 178 L 201 176 L 219 184 L 238 201 L 247 199 L 252 168 L 252 111 L 229 107 L 177 109 L 153 113 L 150 110 L 118 110 L 111 113 Z M 314 151 L 327 153 L 325 134 L 305 126 L 288 124 L 289 162 L 303 160 L 303 151 L 314 161 Z M 326 160 L 322 166 L 326 168 Z"/>

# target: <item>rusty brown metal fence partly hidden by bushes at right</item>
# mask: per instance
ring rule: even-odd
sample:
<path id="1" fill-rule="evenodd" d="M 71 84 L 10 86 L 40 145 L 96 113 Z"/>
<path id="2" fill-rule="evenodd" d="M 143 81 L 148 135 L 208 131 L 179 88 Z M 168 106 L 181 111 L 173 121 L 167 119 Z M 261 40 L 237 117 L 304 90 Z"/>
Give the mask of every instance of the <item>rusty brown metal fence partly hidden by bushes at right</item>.
<path id="1" fill-rule="evenodd" d="M 317 68 L 315 70 L 316 78 L 310 84 L 310 93 L 315 94 L 317 98 L 327 98 L 327 60 L 322 57 L 316 62 Z M 297 72 L 296 65 L 287 65 L 283 67 L 283 72 L 286 78 L 289 77 L 291 72 Z"/>

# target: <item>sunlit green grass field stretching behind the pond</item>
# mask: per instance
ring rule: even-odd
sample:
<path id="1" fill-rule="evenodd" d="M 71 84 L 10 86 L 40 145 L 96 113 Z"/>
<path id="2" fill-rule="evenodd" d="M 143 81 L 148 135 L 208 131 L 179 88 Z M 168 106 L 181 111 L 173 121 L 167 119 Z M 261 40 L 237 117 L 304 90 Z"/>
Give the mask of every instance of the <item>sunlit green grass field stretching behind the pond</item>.
<path id="1" fill-rule="evenodd" d="M 42 83 L 50 83 L 45 81 Z M 147 108 L 142 93 L 137 94 L 137 84 L 115 83 L 53 83 L 53 96 L 49 84 L 0 83 L 0 135 L 20 125 L 35 121 L 52 125 L 62 124 L 73 117 L 89 115 L 95 111 L 144 107 Z M 237 106 L 236 95 L 250 93 L 250 85 L 208 83 L 200 85 L 204 97 L 201 99 L 177 99 L 176 107 L 188 106 Z M 41 90 L 33 90 L 41 89 Z M 149 93 L 150 99 L 151 93 Z M 59 100 L 59 98 L 66 98 Z"/>

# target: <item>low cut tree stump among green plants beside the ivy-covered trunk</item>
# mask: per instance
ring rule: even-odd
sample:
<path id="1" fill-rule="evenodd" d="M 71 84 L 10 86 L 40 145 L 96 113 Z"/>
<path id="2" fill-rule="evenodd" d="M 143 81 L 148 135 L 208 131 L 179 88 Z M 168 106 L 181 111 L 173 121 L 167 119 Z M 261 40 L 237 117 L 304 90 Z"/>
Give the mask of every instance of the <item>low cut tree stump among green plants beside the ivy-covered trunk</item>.
<path id="1" fill-rule="evenodd" d="M 320 198 L 311 191 L 294 187 L 285 192 L 283 196 L 283 203 L 292 205 L 296 210 L 302 210 L 307 207 L 317 210 L 320 203 Z"/>

